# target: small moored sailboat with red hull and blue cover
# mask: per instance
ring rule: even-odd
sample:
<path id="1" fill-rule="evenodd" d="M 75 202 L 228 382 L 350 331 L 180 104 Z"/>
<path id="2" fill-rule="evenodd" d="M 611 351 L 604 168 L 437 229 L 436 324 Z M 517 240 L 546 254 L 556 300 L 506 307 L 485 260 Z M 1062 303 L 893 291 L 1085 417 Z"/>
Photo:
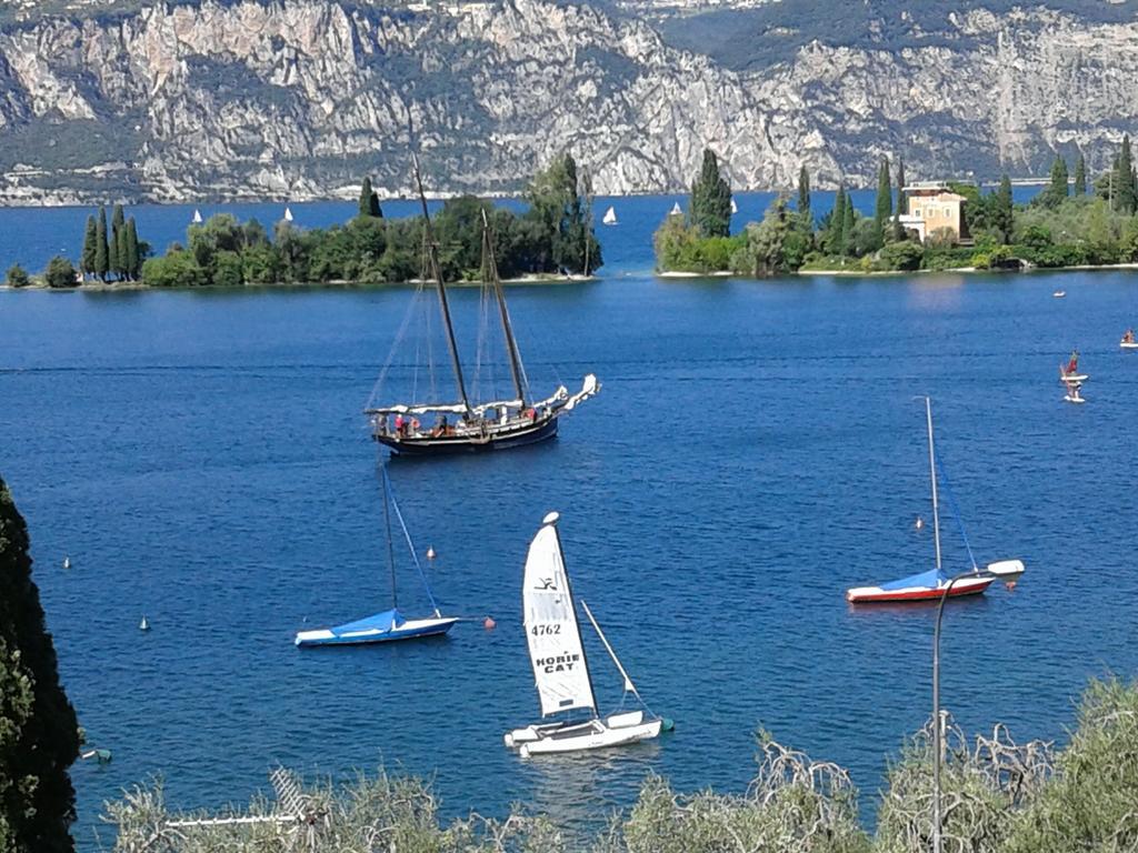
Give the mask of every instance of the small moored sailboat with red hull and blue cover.
<path id="1" fill-rule="evenodd" d="M 932 481 L 932 529 L 937 566 L 898 580 L 847 589 L 846 601 L 851 604 L 935 602 L 940 601 L 946 589 L 949 598 L 980 595 L 991 586 L 997 577 L 1008 574 L 1012 570 L 1015 570 L 1017 574 L 1023 572 L 1023 563 L 1019 560 L 992 563 L 988 566 L 987 571 L 981 571 L 975 558 L 972 556 L 972 546 L 968 545 L 968 537 L 964 533 L 964 523 L 960 521 L 959 512 L 956 511 L 955 506 L 954 513 L 960 527 L 960 535 L 964 537 L 964 545 L 968 550 L 968 558 L 972 561 L 973 571 L 972 574 L 956 578 L 945 571 L 940 555 L 940 498 L 937 488 L 937 453 L 932 433 L 932 401 L 927 397 L 925 397 L 925 419 L 929 428 L 929 474 Z M 951 491 L 949 491 L 949 498 L 951 498 Z"/>

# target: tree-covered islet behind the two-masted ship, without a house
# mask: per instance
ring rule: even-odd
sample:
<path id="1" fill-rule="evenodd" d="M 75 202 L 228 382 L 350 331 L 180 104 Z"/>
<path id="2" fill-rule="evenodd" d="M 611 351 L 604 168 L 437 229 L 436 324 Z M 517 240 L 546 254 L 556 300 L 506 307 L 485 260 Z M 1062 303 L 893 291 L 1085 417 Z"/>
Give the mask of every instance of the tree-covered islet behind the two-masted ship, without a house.
<path id="1" fill-rule="evenodd" d="M 525 200 L 525 213 L 472 196 L 445 201 L 431 216 L 444 278 L 481 279 L 484 212 L 504 279 L 587 276 L 603 265 L 592 223 L 591 182 L 570 155 L 554 158 L 537 173 Z M 357 215 L 343 225 L 300 229 L 281 221 L 270 234 L 257 220 L 241 223 L 231 214 L 217 214 L 191 224 L 184 245 L 173 243 L 155 257 L 147 257 L 150 247 L 121 207 L 114 208 L 109 229 L 100 208 L 88 222 L 79 268 L 67 258 L 52 258 L 44 283 L 55 288 L 403 283 L 424 278 L 423 246 L 423 217 L 386 218 L 365 177 Z M 31 278 L 17 266 L 8 271 L 7 282 L 24 287 Z"/>

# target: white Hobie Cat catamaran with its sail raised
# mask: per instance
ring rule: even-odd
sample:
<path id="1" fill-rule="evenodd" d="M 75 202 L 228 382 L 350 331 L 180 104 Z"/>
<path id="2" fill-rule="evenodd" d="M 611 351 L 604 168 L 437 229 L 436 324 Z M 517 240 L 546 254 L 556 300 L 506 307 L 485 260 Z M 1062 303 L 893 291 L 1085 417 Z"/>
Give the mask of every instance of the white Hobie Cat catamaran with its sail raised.
<path id="1" fill-rule="evenodd" d="M 583 722 L 561 720 L 506 732 L 506 746 L 518 746 L 522 757 L 648 740 L 657 737 L 665 726 L 660 718 L 645 713 L 646 706 L 645 711 L 630 711 L 607 718 L 597 715 L 593 680 L 558 536 L 558 519 L 556 513 L 545 516 L 526 557 L 522 604 L 529 660 L 534 668 L 542 717 L 576 710 L 585 710 L 589 712 L 589 717 Z M 624 677 L 625 690 L 640 701 L 636 687 L 612 646 L 601 633 L 600 626 L 587 607 L 585 612 Z M 641 704 L 643 705 L 643 701 Z"/>

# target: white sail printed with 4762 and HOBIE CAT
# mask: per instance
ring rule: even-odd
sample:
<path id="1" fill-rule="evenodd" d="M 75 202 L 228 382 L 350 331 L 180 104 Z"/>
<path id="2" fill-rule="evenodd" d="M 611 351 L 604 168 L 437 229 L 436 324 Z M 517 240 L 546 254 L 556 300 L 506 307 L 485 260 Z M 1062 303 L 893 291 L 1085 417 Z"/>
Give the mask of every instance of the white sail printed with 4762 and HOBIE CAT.
<path id="1" fill-rule="evenodd" d="M 546 515 L 529 545 L 522 593 L 529 660 L 543 717 L 578 707 L 596 712 L 556 520 L 556 513 Z"/>

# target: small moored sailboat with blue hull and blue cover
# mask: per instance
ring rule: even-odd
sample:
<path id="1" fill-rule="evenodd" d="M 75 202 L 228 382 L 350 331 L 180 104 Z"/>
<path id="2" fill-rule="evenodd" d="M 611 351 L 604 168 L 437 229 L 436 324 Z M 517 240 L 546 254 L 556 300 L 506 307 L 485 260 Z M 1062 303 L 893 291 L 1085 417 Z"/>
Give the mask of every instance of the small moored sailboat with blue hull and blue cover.
<path id="1" fill-rule="evenodd" d="M 390 610 L 385 610 L 382 613 L 364 616 L 363 619 L 357 619 L 353 622 L 345 622 L 344 624 L 333 626 L 331 628 L 318 628 L 312 631 L 299 631 L 296 635 L 296 645 L 302 648 L 308 646 L 352 646 L 364 643 L 393 643 L 395 640 L 414 639 L 417 637 L 432 637 L 446 633 L 454 627 L 454 623 L 459 621 L 457 616 L 444 616 L 439 612 L 438 603 L 435 601 L 430 585 L 427 582 L 427 574 L 423 572 L 423 568 L 419 563 L 415 546 L 411 541 L 411 535 L 407 532 L 407 525 L 403 521 L 403 513 L 399 512 L 399 505 L 395 500 L 395 492 L 391 489 L 391 481 L 387 477 L 386 467 L 382 469 L 382 475 L 384 519 L 387 522 L 387 553 L 391 572 L 393 606 Z M 399 528 L 403 530 L 404 541 L 406 541 L 407 549 L 411 552 L 411 560 L 414 562 L 415 569 L 419 571 L 419 577 L 422 580 L 423 588 L 427 590 L 427 597 L 430 599 L 431 607 L 435 610 L 434 614 L 430 616 L 407 619 L 402 612 L 399 612 L 396 602 L 395 543 L 391 537 L 390 510 L 395 511 L 395 517 L 399 522 Z"/>

